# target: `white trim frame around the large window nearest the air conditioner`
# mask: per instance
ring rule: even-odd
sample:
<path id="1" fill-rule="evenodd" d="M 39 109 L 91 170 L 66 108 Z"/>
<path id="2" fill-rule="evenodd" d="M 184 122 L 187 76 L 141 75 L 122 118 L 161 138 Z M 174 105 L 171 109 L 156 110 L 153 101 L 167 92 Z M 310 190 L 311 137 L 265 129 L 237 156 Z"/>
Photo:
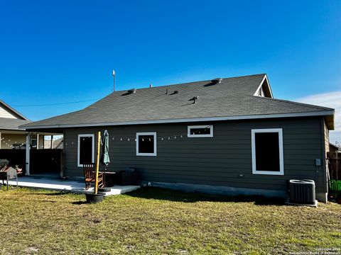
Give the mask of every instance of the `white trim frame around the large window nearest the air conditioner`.
<path id="1" fill-rule="evenodd" d="M 255 134 L 258 132 L 277 132 L 278 133 L 279 171 L 257 171 L 256 170 L 256 140 L 255 140 Z M 283 130 L 281 128 L 268 128 L 268 129 L 253 129 L 253 130 L 251 130 L 251 145 L 252 145 L 252 174 L 284 175 Z"/>

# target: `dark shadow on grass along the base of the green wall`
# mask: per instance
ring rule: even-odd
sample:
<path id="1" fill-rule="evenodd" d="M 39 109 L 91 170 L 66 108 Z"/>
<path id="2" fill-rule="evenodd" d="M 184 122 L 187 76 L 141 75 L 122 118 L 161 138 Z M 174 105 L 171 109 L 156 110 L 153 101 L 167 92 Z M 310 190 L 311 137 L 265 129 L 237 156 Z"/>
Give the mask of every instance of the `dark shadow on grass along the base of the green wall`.
<path id="1" fill-rule="evenodd" d="M 126 196 L 134 198 L 144 198 L 153 200 L 169 200 L 183 203 L 196 202 L 232 202 L 247 203 L 253 202 L 255 205 L 284 205 L 283 198 L 266 198 L 264 196 L 219 196 L 205 193 L 190 193 L 175 191 L 167 188 L 144 187 L 137 191 L 126 193 Z"/>

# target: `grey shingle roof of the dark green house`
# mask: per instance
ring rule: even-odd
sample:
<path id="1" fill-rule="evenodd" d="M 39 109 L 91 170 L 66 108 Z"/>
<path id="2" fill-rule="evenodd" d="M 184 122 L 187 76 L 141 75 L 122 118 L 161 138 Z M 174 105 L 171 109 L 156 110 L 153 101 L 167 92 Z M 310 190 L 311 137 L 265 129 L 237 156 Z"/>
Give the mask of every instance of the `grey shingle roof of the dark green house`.
<path id="1" fill-rule="evenodd" d="M 254 96 L 264 81 L 264 90 L 272 97 L 266 74 L 225 78 L 219 84 L 208 80 L 137 89 L 134 94 L 116 91 L 81 111 L 23 127 L 67 128 L 329 115 L 332 118 L 329 128 L 333 128 L 334 110 L 331 108 Z M 197 103 L 191 100 L 195 96 L 199 96 Z"/>

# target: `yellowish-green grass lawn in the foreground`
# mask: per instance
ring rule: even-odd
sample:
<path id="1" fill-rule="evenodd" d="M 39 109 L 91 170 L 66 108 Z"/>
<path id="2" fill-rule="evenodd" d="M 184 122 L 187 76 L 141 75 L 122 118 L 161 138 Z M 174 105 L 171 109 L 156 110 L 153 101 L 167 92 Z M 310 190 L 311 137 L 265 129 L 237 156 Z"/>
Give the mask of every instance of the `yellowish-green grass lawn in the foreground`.
<path id="1" fill-rule="evenodd" d="M 161 188 L 84 201 L 56 191 L 0 191 L 0 254 L 283 254 L 341 247 L 335 203 L 295 207 Z"/>

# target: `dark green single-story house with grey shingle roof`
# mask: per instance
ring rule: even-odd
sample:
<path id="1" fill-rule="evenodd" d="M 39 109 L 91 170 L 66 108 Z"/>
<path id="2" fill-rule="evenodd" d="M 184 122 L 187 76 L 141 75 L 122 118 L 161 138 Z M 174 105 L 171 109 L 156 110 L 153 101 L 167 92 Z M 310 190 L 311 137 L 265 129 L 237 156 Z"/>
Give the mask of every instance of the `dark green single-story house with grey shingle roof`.
<path id="1" fill-rule="evenodd" d="M 274 98 L 266 74 L 116 91 L 22 127 L 63 133 L 65 176 L 82 176 L 108 130 L 109 171 L 134 167 L 141 183 L 285 196 L 288 179 L 313 179 L 327 200 L 334 109 Z"/>

